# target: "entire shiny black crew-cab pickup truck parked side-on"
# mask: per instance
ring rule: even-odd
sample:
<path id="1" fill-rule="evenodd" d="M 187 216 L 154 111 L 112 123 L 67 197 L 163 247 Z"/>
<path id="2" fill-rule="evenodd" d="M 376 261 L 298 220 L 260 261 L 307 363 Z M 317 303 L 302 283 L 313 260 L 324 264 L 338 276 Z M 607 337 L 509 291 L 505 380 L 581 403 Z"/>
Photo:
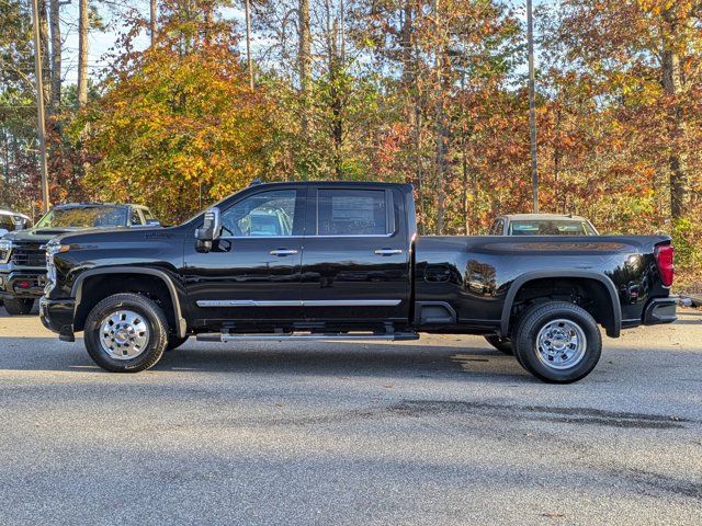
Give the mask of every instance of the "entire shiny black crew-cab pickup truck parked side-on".
<path id="1" fill-rule="evenodd" d="M 670 323 L 664 236 L 418 237 L 409 185 L 250 186 L 178 227 L 66 235 L 47 247 L 44 324 L 84 332 L 111 371 L 190 335 L 217 342 L 482 334 L 570 382 L 609 336 Z"/>

